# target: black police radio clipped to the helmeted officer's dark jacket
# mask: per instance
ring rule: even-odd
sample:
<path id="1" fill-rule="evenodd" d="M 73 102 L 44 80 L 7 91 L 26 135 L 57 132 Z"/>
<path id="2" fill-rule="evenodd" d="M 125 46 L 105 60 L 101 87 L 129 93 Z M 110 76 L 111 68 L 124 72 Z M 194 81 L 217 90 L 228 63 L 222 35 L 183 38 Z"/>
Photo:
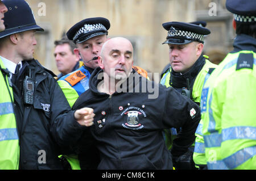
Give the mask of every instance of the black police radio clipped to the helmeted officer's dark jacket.
<path id="1" fill-rule="evenodd" d="M 25 104 L 33 104 L 34 102 L 34 81 L 30 76 L 26 75 L 24 82 L 23 82 L 23 94 L 24 94 L 24 103 Z"/>

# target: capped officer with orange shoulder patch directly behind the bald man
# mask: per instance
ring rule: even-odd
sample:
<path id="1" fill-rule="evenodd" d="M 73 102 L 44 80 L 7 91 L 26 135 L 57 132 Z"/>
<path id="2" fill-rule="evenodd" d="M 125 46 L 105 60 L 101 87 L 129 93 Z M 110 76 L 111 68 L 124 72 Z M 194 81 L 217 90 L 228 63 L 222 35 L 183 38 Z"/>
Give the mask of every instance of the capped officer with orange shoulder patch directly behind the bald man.
<path id="1" fill-rule="evenodd" d="M 61 77 L 58 81 L 71 107 L 79 95 L 88 89 L 90 74 L 98 67 L 98 56 L 102 45 L 108 40 L 109 28 L 110 23 L 106 18 L 88 18 L 76 23 L 67 32 L 68 39 L 77 45 L 74 53 L 81 56 L 84 62 L 80 69 Z"/>

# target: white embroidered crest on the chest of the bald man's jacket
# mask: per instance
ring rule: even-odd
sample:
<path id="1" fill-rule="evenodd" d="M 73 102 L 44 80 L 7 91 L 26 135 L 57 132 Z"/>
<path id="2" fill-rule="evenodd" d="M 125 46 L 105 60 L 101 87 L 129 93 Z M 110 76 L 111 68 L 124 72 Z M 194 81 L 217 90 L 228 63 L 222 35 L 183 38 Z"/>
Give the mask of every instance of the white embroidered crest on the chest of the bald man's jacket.
<path id="1" fill-rule="evenodd" d="M 142 129 L 144 125 L 140 123 L 139 116 L 147 117 L 146 113 L 138 107 L 128 107 L 122 113 L 121 116 L 126 115 L 126 123 L 122 124 L 127 129 Z"/>

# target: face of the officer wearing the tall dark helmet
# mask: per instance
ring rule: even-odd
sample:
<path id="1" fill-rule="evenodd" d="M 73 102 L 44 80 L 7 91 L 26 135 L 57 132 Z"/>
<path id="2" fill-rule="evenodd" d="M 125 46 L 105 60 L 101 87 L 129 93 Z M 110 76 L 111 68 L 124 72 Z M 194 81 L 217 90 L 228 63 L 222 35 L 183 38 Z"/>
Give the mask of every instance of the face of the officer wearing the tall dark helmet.
<path id="1" fill-rule="evenodd" d="M 22 33 L 17 33 L 19 36 L 17 52 L 22 60 L 33 59 L 36 45 L 35 32 L 35 30 L 28 30 Z"/>

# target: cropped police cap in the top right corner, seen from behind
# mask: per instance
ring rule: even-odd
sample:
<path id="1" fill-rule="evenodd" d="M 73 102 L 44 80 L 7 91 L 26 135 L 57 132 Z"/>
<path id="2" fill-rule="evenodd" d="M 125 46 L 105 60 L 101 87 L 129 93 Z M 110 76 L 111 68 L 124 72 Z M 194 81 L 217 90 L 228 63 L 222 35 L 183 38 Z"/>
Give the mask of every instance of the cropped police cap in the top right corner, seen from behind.
<path id="1" fill-rule="evenodd" d="M 234 20 L 236 22 L 248 24 L 256 23 L 255 0 L 227 0 L 226 9 L 234 14 Z"/>

